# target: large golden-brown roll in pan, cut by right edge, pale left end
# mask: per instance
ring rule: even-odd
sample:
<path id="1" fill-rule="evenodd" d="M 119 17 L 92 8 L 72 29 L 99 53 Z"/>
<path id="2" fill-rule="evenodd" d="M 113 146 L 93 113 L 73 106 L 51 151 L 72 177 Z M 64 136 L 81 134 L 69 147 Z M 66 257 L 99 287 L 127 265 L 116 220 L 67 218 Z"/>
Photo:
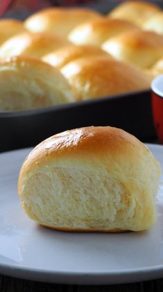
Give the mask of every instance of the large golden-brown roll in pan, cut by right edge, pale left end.
<path id="1" fill-rule="evenodd" d="M 105 41 L 102 48 L 116 59 L 149 68 L 163 56 L 163 36 L 133 29 Z"/>

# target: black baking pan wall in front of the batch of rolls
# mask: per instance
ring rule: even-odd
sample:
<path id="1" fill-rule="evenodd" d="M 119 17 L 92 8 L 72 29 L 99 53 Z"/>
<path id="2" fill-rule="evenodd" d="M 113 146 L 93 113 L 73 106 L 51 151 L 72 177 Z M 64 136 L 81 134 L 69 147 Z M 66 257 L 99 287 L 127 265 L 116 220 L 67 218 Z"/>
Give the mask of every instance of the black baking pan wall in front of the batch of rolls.
<path id="1" fill-rule="evenodd" d="M 122 128 L 141 141 L 155 139 L 150 91 L 24 112 L 0 112 L 0 151 L 35 146 L 58 132 L 89 125 Z"/>

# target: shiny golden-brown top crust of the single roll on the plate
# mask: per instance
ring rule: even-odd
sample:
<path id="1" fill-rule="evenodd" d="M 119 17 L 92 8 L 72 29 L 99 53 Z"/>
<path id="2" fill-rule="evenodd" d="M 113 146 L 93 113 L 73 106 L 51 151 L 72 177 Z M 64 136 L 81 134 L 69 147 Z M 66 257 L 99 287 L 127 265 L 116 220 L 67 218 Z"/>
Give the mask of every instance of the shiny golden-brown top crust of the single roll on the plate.
<path id="1" fill-rule="evenodd" d="M 137 151 L 139 149 L 139 157 Z M 37 145 L 26 157 L 19 174 L 18 193 L 21 192 L 26 176 L 45 164 L 51 164 L 62 155 L 66 159 L 73 159 L 87 155 L 89 160 L 96 156 L 102 162 L 107 161 L 107 155 L 123 157 L 123 161 L 132 159 L 132 163 L 144 159 L 148 149 L 137 138 L 127 132 L 112 127 L 87 127 L 67 130 L 58 135 L 49 137 Z M 93 160 L 92 160 L 93 161 Z M 155 160 L 153 159 L 155 163 Z"/>

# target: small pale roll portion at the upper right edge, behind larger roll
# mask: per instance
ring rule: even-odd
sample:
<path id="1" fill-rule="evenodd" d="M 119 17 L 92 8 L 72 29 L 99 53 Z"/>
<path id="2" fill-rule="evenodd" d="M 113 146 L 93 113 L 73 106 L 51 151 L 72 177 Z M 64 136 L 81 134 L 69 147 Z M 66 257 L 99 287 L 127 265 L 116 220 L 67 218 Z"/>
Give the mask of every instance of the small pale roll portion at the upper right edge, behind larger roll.
<path id="1" fill-rule="evenodd" d="M 153 17 L 142 25 L 142 28 L 147 31 L 155 31 L 155 33 L 163 34 L 163 11 L 153 15 Z"/>

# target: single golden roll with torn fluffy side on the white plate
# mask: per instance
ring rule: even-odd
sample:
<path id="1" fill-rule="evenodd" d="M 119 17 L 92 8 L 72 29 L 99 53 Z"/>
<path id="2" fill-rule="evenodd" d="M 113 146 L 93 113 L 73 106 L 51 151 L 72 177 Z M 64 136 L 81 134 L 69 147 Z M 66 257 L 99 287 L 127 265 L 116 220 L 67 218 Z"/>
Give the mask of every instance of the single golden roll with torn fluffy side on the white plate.
<path id="1" fill-rule="evenodd" d="M 24 211 L 63 231 L 142 231 L 155 224 L 160 164 L 136 137 L 111 127 L 68 130 L 26 157 Z"/>

